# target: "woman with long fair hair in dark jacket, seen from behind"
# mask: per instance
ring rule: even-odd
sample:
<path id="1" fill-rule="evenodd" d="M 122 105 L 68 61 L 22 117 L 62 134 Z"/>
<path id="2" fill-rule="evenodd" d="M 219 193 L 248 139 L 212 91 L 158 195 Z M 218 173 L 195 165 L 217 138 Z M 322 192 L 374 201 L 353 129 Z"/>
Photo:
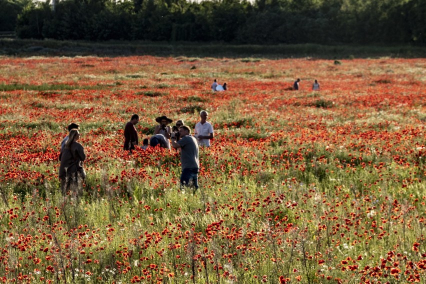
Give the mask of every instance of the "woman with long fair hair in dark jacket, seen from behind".
<path id="1" fill-rule="evenodd" d="M 69 131 L 68 140 L 59 154 L 59 179 L 62 194 L 66 194 L 69 189 L 78 189 L 78 177 L 81 175 L 83 161 L 86 159 L 83 146 L 78 142 L 80 133 L 74 128 Z M 79 174 L 78 174 L 79 173 Z"/>

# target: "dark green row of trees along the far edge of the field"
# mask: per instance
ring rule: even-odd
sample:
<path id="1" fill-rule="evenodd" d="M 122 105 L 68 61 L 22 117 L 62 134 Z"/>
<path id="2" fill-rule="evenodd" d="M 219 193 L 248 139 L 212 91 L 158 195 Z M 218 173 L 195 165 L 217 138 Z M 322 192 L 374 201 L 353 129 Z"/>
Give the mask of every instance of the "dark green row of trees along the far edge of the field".
<path id="1" fill-rule="evenodd" d="M 426 43 L 424 0 L 0 0 L 20 38 Z"/>

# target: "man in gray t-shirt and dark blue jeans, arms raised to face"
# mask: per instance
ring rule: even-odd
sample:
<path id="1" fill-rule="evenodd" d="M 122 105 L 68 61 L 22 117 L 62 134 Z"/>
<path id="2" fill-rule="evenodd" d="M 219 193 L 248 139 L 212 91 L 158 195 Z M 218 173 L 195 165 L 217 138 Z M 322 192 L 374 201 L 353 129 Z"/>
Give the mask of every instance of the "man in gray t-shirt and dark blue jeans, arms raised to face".
<path id="1" fill-rule="evenodd" d="M 193 186 L 198 189 L 198 143 L 195 137 L 190 135 L 191 130 L 188 126 L 179 127 L 180 139 L 176 142 L 174 133 L 171 133 L 171 145 L 173 148 L 180 148 L 180 164 L 182 173 L 180 174 L 180 187 L 189 186 L 192 180 Z"/>

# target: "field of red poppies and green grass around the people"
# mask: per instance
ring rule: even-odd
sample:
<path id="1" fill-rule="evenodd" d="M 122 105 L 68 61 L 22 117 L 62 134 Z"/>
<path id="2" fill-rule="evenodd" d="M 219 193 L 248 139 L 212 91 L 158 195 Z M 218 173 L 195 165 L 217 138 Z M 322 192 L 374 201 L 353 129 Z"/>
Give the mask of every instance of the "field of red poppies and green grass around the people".
<path id="1" fill-rule="evenodd" d="M 426 59 L 0 57 L 0 282 L 424 283 L 425 93 Z M 122 150 L 133 113 L 141 141 L 202 109 L 195 193 L 178 152 Z"/>

